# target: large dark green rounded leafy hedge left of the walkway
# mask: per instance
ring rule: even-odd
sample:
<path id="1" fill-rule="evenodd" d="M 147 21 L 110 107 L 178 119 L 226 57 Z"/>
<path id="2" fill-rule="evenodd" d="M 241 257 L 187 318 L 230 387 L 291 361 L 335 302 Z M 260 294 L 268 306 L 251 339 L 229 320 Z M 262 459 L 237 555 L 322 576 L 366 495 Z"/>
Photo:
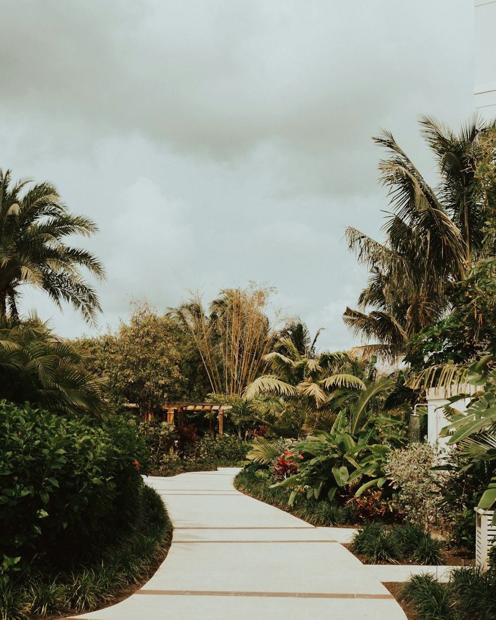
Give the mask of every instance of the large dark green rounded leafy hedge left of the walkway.
<path id="1" fill-rule="evenodd" d="M 0 401 L 0 549 L 58 561 L 135 520 L 146 446 L 121 418 L 60 416 Z"/>

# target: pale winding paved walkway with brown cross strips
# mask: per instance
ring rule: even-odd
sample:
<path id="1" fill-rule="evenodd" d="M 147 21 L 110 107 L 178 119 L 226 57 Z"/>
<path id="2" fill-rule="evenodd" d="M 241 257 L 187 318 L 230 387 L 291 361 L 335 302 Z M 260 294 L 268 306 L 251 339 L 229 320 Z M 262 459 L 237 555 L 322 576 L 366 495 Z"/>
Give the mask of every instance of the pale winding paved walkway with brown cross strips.
<path id="1" fill-rule="evenodd" d="M 91 620 L 405 620 L 334 538 L 232 487 L 237 470 L 146 479 L 174 523 L 169 554 L 130 598 Z M 341 530 L 342 532 L 343 530 Z"/>

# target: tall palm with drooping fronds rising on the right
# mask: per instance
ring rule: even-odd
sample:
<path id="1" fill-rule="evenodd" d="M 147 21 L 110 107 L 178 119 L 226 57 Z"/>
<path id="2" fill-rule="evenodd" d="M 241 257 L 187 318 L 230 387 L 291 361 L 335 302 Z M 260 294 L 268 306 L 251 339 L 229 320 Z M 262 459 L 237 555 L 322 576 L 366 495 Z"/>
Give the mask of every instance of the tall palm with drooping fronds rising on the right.
<path id="1" fill-rule="evenodd" d="M 381 181 L 389 190 L 392 213 L 379 243 L 348 228 L 348 246 L 368 265 L 370 278 L 360 294 L 360 310 L 343 316 L 353 333 L 365 337 L 367 354 L 394 361 L 412 334 L 448 311 L 449 286 L 466 277 L 482 246 L 487 215 L 484 191 L 477 191 L 480 143 L 493 136 L 496 119 L 475 115 L 458 133 L 432 117 L 422 117 L 422 135 L 433 152 L 440 183 L 423 179 L 391 133 L 374 141 L 389 157 L 379 162 Z M 375 342 L 374 342 L 375 340 Z"/>

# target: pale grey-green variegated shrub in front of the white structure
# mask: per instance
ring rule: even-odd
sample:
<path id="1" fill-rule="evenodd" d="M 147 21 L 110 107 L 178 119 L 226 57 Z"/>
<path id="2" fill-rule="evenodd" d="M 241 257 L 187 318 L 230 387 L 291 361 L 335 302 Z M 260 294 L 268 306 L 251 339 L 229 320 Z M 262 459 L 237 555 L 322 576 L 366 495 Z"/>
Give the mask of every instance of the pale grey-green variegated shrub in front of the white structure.
<path id="1" fill-rule="evenodd" d="M 394 503 L 405 521 L 427 529 L 443 514 L 438 498 L 445 473 L 433 471 L 438 454 L 428 443 L 414 443 L 409 449 L 393 450 L 387 458 L 386 473 L 396 490 Z M 445 510 L 446 512 L 446 510 Z"/>

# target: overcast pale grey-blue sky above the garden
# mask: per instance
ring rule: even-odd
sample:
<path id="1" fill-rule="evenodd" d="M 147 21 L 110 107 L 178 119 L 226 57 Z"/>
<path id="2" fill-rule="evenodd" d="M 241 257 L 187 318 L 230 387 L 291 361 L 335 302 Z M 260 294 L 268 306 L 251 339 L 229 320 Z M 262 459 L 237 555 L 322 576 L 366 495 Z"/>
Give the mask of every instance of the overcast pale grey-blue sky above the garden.
<path id="1" fill-rule="evenodd" d="M 366 272 L 346 226 L 380 237 L 392 131 L 435 178 L 418 115 L 474 111 L 471 0 L 21 0 L 2 2 L 0 167 L 50 180 L 100 233 L 100 329 L 130 296 L 160 311 L 199 288 L 275 286 L 321 348 Z M 26 294 L 55 331 L 71 306 Z"/>

